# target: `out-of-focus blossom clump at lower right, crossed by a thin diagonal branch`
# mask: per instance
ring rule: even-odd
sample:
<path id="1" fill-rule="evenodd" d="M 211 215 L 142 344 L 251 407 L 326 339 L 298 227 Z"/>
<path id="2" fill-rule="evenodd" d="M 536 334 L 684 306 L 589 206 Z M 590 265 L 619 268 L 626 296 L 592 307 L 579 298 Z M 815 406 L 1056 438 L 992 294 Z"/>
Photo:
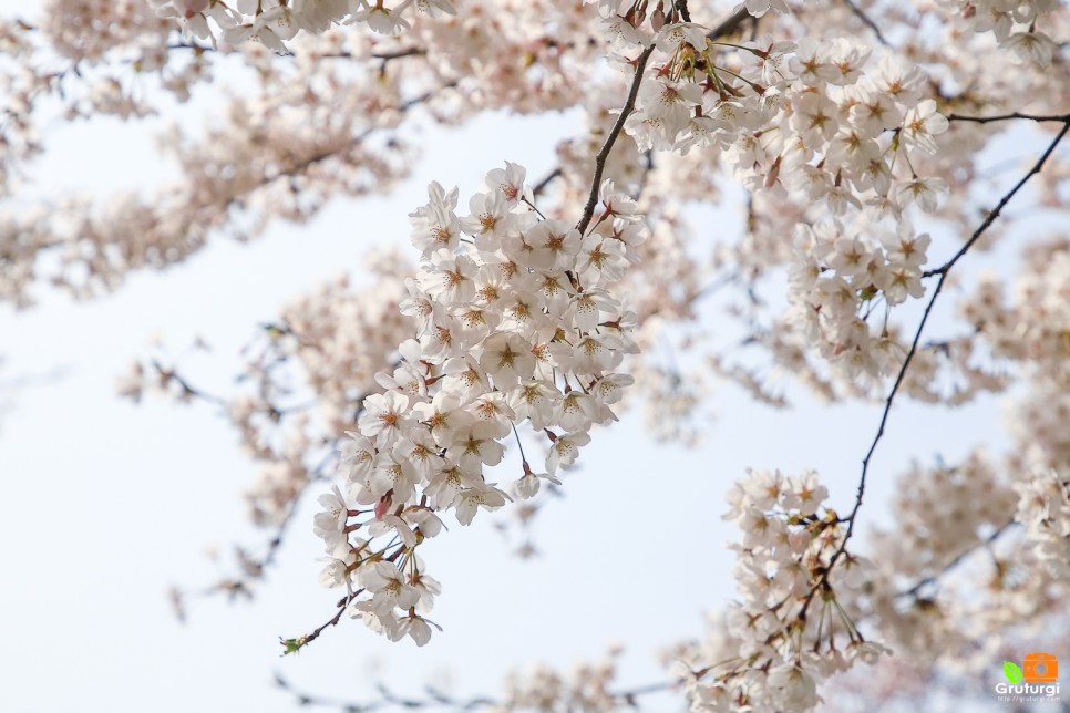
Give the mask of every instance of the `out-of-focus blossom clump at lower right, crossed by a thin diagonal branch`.
<path id="1" fill-rule="evenodd" d="M 896 658 L 976 680 L 1015 639 L 1015 622 L 1045 618 L 1070 593 L 1066 483 L 1025 468 L 978 448 L 897 479 L 894 526 L 871 540 L 866 587 L 842 600 Z"/>

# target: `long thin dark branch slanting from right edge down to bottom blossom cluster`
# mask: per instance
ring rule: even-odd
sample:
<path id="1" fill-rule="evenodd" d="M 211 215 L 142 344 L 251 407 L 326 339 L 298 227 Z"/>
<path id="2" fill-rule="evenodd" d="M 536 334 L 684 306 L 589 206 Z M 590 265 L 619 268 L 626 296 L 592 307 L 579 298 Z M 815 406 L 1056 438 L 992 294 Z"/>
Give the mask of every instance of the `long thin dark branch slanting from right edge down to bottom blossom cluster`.
<path id="1" fill-rule="evenodd" d="M 892 391 L 888 392 L 888 396 L 884 402 L 884 412 L 881 414 L 881 423 L 877 427 L 876 436 L 874 436 L 873 443 L 870 444 L 870 450 L 862 459 L 862 475 L 858 478 L 858 492 L 855 495 L 854 507 L 851 510 L 851 515 L 843 520 L 847 523 L 847 531 L 844 534 L 843 540 L 840 542 L 840 547 L 836 548 L 836 551 L 833 552 L 832 557 L 829 559 L 829 565 L 821 574 L 817 582 L 813 586 L 813 588 L 811 588 L 810 592 L 803 600 L 802 609 L 799 611 L 800 620 L 805 620 L 806 610 L 810 608 L 810 604 L 817 591 L 827 588 L 830 574 L 832 572 L 833 568 L 835 568 L 840 558 L 843 557 L 843 555 L 847 551 L 847 540 L 850 540 L 851 536 L 854 534 L 854 526 L 857 521 L 858 510 L 862 508 L 862 500 L 865 496 L 866 477 L 870 473 L 870 461 L 873 457 L 874 452 L 876 452 L 877 444 L 881 443 L 881 438 L 884 437 L 884 430 L 888 422 L 888 415 L 892 413 L 892 403 L 895 401 L 895 395 L 899 392 L 899 388 L 903 385 L 903 382 L 906 379 L 906 370 L 914 360 L 914 355 L 917 353 L 918 343 L 922 341 L 922 332 L 925 331 L 925 324 L 928 322 L 929 314 L 933 311 L 933 306 L 936 303 L 936 299 L 939 297 L 940 290 L 944 288 L 944 283 L 947 281 L 947 276 L 950 269 L 959 261 L 959 259 L 961 259 L 964 255 L 966 255 L 966 252 L 977 242 L 977 240 L 980 239 L 981 235 L 985 234 L 992 223 L 995 223 L 996 218 L 999 217 L 1000 211 L 1008 203 L 1010 203 L 1011 198 L 1015 197 L 1021 187 L 1025 186 L 1032 176 L 1040 173 L 1040 169 L 1054 152 L 1056 146 L 1059 145 L 1059 142 L 1061 142 L 1067 135 L 1068 131 L 1070 131 L 1070 118 L 1064 121 L 1062 130 L 1058 133 L 1058 135 L 1056 135 L 1054 140 L 1048 146 L 1047 151 L 1045 151 L 1045 153 L 1040 156 L 1037 163 L 1033 164 L 1033 167 L 1029 169 L 1029 173 L 1027 173 L 1022 179 L 1019 180 L 1015 187 L 1011 188 L 1010 192 L 999 200 L 995 209 L 988 214 L 988 217 L 985 218 L 985 221 L 981 223 L 977 230 L 974 231 L 974 234 L 969 237 L 969 240 L 966 241 L 958 252 L 956 252 L 955 256 L 944 265 L 944 267 L 937 270 L 936 273 L 940 276 L 940 279 L 933 289 L 933 297 L 929 298 L 928 304 L 925 306 L 925 312 L 922 314 L 922 321 L 918 323 L 917 331 L 914 333 L 914 341 L 910 343 L 910 350 L 907 352 L 906 359 L 903 361 L 903 366 L 899 368 L 899 373 L 896 375 L 895 383 L 892 385 Z"/>

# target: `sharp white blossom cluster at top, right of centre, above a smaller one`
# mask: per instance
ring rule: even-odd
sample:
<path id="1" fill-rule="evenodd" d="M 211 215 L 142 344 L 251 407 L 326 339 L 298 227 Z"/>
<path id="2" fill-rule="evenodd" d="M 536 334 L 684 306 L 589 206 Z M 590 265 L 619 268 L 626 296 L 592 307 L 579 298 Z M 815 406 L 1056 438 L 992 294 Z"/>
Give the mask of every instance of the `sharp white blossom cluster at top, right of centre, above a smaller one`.
<path id="1" fill-rule="evenodd" d="M 617 11 L 604 1 L 603 14 L 625 22 Z M 748 188 L 834 216 L 933 211 L 947 190 L 943 178 L 919 176 L 912 157 L 935 154 L 948 122 L 923 99 L 925 75 L 898 55 L 848 38 L 726 45 L 692 23 L 649 40 L 611 38 L 624 51 L 647 42 L 659 51 L 626 123 L 640 148 L 716 147 Z"/>

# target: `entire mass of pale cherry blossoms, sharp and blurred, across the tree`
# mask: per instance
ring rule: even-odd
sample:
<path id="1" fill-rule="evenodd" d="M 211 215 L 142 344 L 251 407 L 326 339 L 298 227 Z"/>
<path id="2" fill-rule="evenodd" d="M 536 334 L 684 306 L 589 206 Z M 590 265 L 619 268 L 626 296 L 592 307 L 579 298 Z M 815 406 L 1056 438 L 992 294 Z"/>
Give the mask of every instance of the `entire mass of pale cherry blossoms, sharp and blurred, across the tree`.
<path id="1" fill-rule="evenodd" d="M 731 14 L 630 0 L 52 0 L 40 22 L 0 27 L 0 194 L 18 207 L 0 215 L 0 299 L 24 308 L 53 286 L 95 297 L 220 236 L 390 190 L 422 122 L 570 112 L 546 177 L 510 161 L 464 192 L 436 176 L 426 203 L 412 197 L 411 250 L 369 257 L 368 290 L 339 280 L 287 306 L 233 395 L 202 392 L 163 353 L 120 391 L 218 407 L 258 466 L 256 524 L 281 533 L 319 496 L 307 524 L 325 547 L 319 580 L 344 591 L 329 623 L 348 614 L 416 645 L 449 596 L 424 541 L 476 518 L 526 523 L 624 409 L 690 442 L 711 427 L 699 414 L 717 407 L 714 383 L 776 407 L 796 385 L 883 401 L 848 509 L 814 471 L 737 474 L 738 598 L 666 653 L 670 683 L 696 711 L 806 710 L 901 652 L 979 671 L 986 647 L 1070 600 L 1070 250 L 1005 210 L 1028 183 L 1038 210 L 1064 218 L 1067 20 L 1054 0 L 747 0 Z M 54 118 L 141 121 L 235 68 L 249 81 L 213 100 L 213 121 L 162 137 L 172 183 L 23 197 Z M 1047 148 L 997 189 L 987 156 L 1004 140 Z M 741 196 L 739 236 L 696 217 Z M 1020 251 L 1016 275 L 968 275 L 992 246 Z M 937 298 L 957 300 L 950 324 L 928 323 Z M 739 339 L 702 333 L 709 304 Z M 695 358 L 666 365 L 665 344 Z M 893 405 L 1004 392 L 1014 447 L 918 462 L 893 502 L 864 497 Z M 876 507 L 894 526 L 866 533 Z M 280 539 L 261 560 L 243 555 L 249 580 Z M 611 659 L 576 680 L 538 670 L 503 705 L 630 702 L 613 675 Z"/>

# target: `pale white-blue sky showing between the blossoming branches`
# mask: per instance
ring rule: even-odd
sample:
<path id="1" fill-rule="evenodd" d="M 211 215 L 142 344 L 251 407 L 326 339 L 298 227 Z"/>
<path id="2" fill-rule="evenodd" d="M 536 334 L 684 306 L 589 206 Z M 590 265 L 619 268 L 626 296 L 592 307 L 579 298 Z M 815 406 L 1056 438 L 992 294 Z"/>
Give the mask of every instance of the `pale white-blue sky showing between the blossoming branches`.
<path id="1" fill-rule="evenodd" d="M 0 11 L 16 4 L 0 2 Z M 208 406 L 120 401 L 115 378 L 130 360 L 154 335 L 175 348 L 203 335 L 214 350 L 186 362 L 188 372 L 225 383 L 239 369 L 240 347 L 284 303 L 340 271 L 359 276 L 372 246 L 405 246 L 405 214 L 425 200 L 429 180 L 467 195 L 505 159 L 537 178 L 553 167 L 555 141 L 575 130 L 568 115 L 494 115 L 462 131 L 430 131 L 424 159 L 391 197 L 336 202 L 311 225 L 277 225 L 250 245 L 215 242 L 90 303 L 44 294 L 23 313 L 0 308 L 0 383 L 62 371 L 0 391 L 8 400 L 0 413 L 3 710 L 294 710 L 272 685 L 275 672 L 302 690 L 356 701 L 368 700 L 378 680 L 400 693 L 450 681 L 454 692 L 496 695 L 510 670 L 537 660 L 568 668 L 614 642 L 627 652 L 620 680 L 651 683 L 665 678 L 657 649 L 701 634 L 703 612 L 733 595 L 723 544 L 735 533 L 720 516 L 745 467 L 815 467 L 836 504 L 848 506 L 876 406 L 802 397 L 775 412 L 726 388 L 712 399 L 717 420 L 701 447 L 652 443 L 637 413 L 599 431 L 583 468 L 566 478 L 567 497 L 539 516 L 541 557 L 513 557 L 492 528 L 495 516 L 470 528 L 454 523 L 429 542 L 430 571 L 444 585 L 432 619 L 445 631 L 426 648 L 391 644 L 343 621 L 300 655 L 279 658 L 280 636 L 305 633 L 333 613 L 337 591 L 317 583 L 315 506 L 298 516 L 256 601 L 199 599 L 185 626 L 175 620 L 168 587 L 196 588 L 224 571 L 208 549 L 229 565 L 232 542 L 266 539 L 247 525 L 240 497 L 255 465 Z M 37 177 L 53 195 L 167 175 L 147 158 L 146 132 L 120 122 L 55 124 L 45 140 L 51 153 Z M 734 217 L 720 219 L 711 231 L 734 238 Z M 904 401 L 873 464 L 862 531 L 881 518 L 912 458 L 940 453 L 954 462 L 973 444 L 1000 442 L 997 414 L 991 401 L 954 420 Z"/>

